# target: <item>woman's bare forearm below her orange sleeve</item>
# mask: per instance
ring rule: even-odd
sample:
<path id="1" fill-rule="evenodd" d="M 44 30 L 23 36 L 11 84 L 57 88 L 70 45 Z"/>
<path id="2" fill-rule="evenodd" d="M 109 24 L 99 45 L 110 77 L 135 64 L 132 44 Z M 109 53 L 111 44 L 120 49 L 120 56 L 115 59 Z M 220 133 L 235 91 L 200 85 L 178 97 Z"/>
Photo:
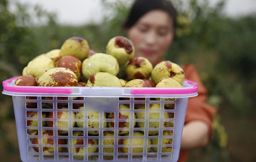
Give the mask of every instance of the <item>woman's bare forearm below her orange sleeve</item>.
<path id="1" fill-rule="evenodd" d="M 209 126 L 199 120 L 184 125 L 182 133 L 182 150 L 190 150 L 207 145 L 209 142 Z"/>

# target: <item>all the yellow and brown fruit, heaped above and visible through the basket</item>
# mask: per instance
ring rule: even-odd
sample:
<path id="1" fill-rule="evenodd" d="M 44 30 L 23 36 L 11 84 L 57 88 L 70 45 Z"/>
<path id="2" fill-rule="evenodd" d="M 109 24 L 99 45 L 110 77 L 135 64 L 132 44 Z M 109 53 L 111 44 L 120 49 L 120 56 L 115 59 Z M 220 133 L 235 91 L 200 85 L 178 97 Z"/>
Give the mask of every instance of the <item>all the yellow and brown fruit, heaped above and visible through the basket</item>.
<path id="1" fill-rule="evenodd" d="M 61 49 L 55 49 L 41 54 L 30 61 L 23 69 L 22 76 L 16 81 L 16 86 L 44 86 L 44 87 L 182 87 L 184 81 L 184 71 L 177 64 L 170 61 L 162 61 L 154 68 L 151 62 L 144 57 L 134 57 L 135 49 L 132 42 L 126 37 L 114 37 L 109 40 L 106 46 L 106 54 L 96 53 L 89 50 L 88 43 L 80 37 L 71 37 L 62 44 Z M 119 69 L 124 69 L 125 78 L 118 78 Z M 47 97 L 45 97 L 47 100 Z M 61 97 L 60 97 L 61 98 Z M 33 97 L 27 97 L 27 100 L 33 100 Z M 49 100 L 49 99 L 48 99 Z M 157 99 L 155 99 L 157 100 Z M 170 99 L 171 100 L 171 99 Z M 27 108 L 36 108 L 37 103 L 26 103 Z M 47 105 L 47 104 L 46 104 Z M 48 104 L 50 105 L 50 104 Z M 99 131 L 92 128 L 99 128 L 99 112 L 88 112 L 84 117 L 86 105 L 73 105 L 76 112 L 72 112 L 73 119 L 90 119 L 88 123 L 84 121 L 73 121 L 72 128 L 88 128 L 88 136 L 98 136 Z M 136 104 L 137 110 L 145 110 L 145 104 Z M 166 109 L 173 109 L 173 104 L 165 104 Z M 57 109 L 68 109 L 67 104 L 58 106 Z M 81 110 L 81 111 L 80 111 Z M 130 117 L 130 107 L 126 104 L 119 104 L 119 118 L 145 119 L 144 112 L 135 112 Z M 159 111 L 160 104 L 150 104 L 149 110 Z M 37 112 L 27 111 L 27 118 L 38 118 Z M 42 112 L 44 118 L 55 118 L 53 112 Z M 68 111 L 58 111 L 57 118 L 68 119 Z M 114 113 L 103 112 L 103 118 L 115 118 Z M 149 112 L 150 119 L 159 119 L 159 112 Z M 163 118 L 174 118 L 174 113 L 164 112 Z M 98 119 L 98 120 L 91 120 Z M 55 125 L 56 124 L 56 125 Z M 42 121 L 42 127 L 68 128 L 68 121 Z M 145 122 L 134 122 L 132 127 L 144 128 Z M 38 120 L 27 120 L 27 126 L 38 126 Z M 114 122 L 103 122 L 104 128 L 116 128 Z M 131 136 L 129 132 L 130 123 L 127 121 L 118 122 L 119 136 Z M 173 122 L 163 122 L 163 127 L 173 127 Z M 91 128 L 91 129 L 90 129 Z M 148 128 L 160 128 L 159 122 L 149 122 Z M 120 130 L 120 129 L 119 129 Z M 38 135 L 38 130 L 28 130 L 29 135 Z M 71 132 L 69 132 L 71 133 Z M 84 153 L 88 146 L 98 145 L 99 138 L 88 139 L 87 141 L 79 136 L 84 137 L 83 131 L 72 131 L 72 143 L 74 145 L 84 145 L 86 147 L 73 147 L 74 153 Z M 87 132 L 86 132 L 87 133 Z M 148 131 L 148 136 L 158 136 L 159 131 Z M 162 131 L 163 136 L 172 136 L 171 130 Z M 53 130 L 42 130 L 42 144 L 54 144 Z M 46 137 L 44 137 L 46 136 Z M 68 136 L 68 131 L 58 130 L 58 136 Z M 114 131 L 104 131 L 103 145 L 114 145 Z M 133 131 L 133 144 L 144 144 L 144 131 Z M 147 135 L 146 135 L 147 136 Z M 78 138 L 76 138 L 78 137 Z M 138 137 L 138 138 L 136 138 Z M 30 138 L 34 144 L 39 144 L 38 138 Z M 148 139 L 148 143 L 157 145 L 158 139 Z M 55 142 L 56 144 L 56 142 Z M 58 144 L 68 144 L 65 138 L 58 138 Z M 172 138 L 163 138 L 162 144 L 172 144 Z M 129 138 L 118 140 L 118 145 L 129 145 Z M 147 152 L 158 152 L 157 147 L 147 147 Z M 33 147 L 39 152 L 38 147 Z M 162 152 L 171 152 L 171 147 L 162 147 Z M 94 153 L 97 147 L 88 147 L 88 153 Z M 54 152 L 53 147 L 43 147 L 43 152 Z M 68 148 L 58 147 L 58 152 L 68 152 Z M 118 152 L 128 153 L 128 147 L 118 149 Z M 134 147 L 133 153 L 143 152 L 143 147 Z M 103 148 L 103 153 L 114 153 L 114 148 Z M 75 158 L 83 159 L 83 155 L 74 155 Z"/>

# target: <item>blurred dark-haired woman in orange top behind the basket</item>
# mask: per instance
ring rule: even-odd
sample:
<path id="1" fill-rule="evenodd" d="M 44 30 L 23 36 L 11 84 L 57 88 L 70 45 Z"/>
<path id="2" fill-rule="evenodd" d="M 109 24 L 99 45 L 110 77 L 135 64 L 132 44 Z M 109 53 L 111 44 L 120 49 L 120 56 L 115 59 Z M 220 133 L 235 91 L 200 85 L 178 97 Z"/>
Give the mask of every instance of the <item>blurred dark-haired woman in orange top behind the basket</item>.
<path id="1" fill-rule="evenodd" d="M 124 30 L 135 46 L 135 57 L 148 58 L 155 66 L 162 61 L 175 35 L 176 12 L 169 0 L 136 0 Z M 194 65 L 182 66 L 185 78 L 198 83 L 198 96 L 189 99 L 178 162 L 186 162 L 190 149 L 205 146 L 213 132 L 216 110 L 205 103 L 206 88 Z"/>

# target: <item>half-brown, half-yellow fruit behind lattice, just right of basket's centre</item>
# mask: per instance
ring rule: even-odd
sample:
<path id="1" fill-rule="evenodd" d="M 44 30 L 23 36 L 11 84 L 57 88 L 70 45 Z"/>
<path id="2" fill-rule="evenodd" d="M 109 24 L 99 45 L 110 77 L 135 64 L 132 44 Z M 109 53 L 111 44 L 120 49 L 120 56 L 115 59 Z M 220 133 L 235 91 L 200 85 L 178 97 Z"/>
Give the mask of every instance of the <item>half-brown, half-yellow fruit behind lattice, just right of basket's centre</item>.
<path id="1" fill-rule="evenodd" d="M 118 112 L 118 118 L 119 119 L 129 119 L 130 118 L 130 111 L 124 111 L 124 110 L 129 110 L 130 108 L 124 104 L 119 104 L 119 112 Z M 135 117 L 135 114 L 134 114 Z M 114 113 L 109 113 L 107 118 L 115 118 L 115 114 Z M 117 122 L 117 121 L 116 121 Z M 133 127 L 135 127 L 136 122 L 134 122 Z M 115 127 L 115 123 L 114 122 L 108 122 L 108 127 L 109 128 L 114 128 Z M 118 128 L 129 128 L 130 127 L 130 123 L 127 121 L 119 121 L 118 122 Z M 128 129 L 122 129 L 119 131 L 119 134 L 126 134 L 128 133 L 129 130 Z"/>

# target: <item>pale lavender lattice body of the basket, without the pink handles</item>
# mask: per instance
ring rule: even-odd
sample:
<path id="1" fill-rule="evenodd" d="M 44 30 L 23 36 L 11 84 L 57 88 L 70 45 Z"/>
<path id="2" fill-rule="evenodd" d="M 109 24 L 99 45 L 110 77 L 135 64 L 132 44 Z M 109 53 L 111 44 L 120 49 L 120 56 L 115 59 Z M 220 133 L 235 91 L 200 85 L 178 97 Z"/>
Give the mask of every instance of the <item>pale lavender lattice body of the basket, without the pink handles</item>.
<path id="1" fill-rule="evenodd" d="M 184 88 L 189 88 L 188 83 L 183 84 Z M 192 86 L 193 87 L 193 86 Z M 179 157 L 181 146 L 182 129 L 184 125 L 186 109 L 189 97 L 196 96 L 197 93 L 191 94 L 168 94 L 168 95 L 133 95 L 130 88 L 88 88 L 74 87 L 71 94 L 47 94 L 47 93 L 19 93 L 7 92 L 4 94 L 13 96 L 13 108 L 15 113 L 15 121 L 17 126 L 17 134 L 20 148 L 20 158 L 22 162 L 79 162 L 79 161 L 97 161 L 97 162 L 120 162 L 120 161 L 143 161 L 143 162 L 176 162 Z M 34 98 L 27 98 L 34 96 Z M 75 97 L 76 96 L 76 97 Z M 77 98 L 78 97 L 78 98 Z M 156 100 L 157 98 L 157 100 Z M 79 99 L 79 100 L 78 100 Z M 138 100 L 140 99 L 140 100 Z M 170 100 L 175 99 L 175 100 Z M 34 107 L 27 106 L 34 103 Z M 82 109 L 77 109 L 76 104 L 81 104 Z M 119 105 L 128 106 L 127 110 L 119 110 Z M 150 109 L 152 104 L 157 104 L 160 109 Z M 166 105 L 171 104 L 171 108 Z M 144 105 L 145 109 L 138 109 Z M 59 109 L 65 106 L 67 109 Z M 76 107 L 76 108 L 75 108 Z M 128 112 L 129 118 L 119 118 L 120 112 Z M 27 117 L 27 112 L 37 113 L 36 118 Z M 53 112 L 52 118 L 43 118 L 42 112 L 49 114 Z M 65 119 L 58 118 L 59 112 L 67 112 L 68 117 Z M 74 118 L 73 113 L 83 113 L 85 118 Z M 97 112 L 98 118 L 88 118 L 90 112 Z M 105 118 L 105 114 L 114 113 L 115 118 Z M 136 113 L 143 113 L 145 118 L 136 118 Z M 157 114 L 157 118 L 150 118 L 150 114 Z M 165 118 L 164 114 L 171 114 Z M 30 121 L 37 121 L 36 126 L 28 126 Z M 42 125 L 44 122 L 53 122 L 53 126 Z M 59 122 L 67 122 L 66 127 L 60 127 Z M 73 122 L 83 122 L 83 127 L 77 124 L 73 127 Z M 97 127 L 89 127 L 90 122 L 97 122 Z M 109 122 L 114 122 L 113 127 L 108 127 Z M 120 123 L 127 122 L 129 126 L 120 127 Z M 138 127 L 138 122 L 144 122 L 143 127 Z M 158 126 L 152 128 L 150 123 L 157 122 Z M 107 126 L 104 126 L 107 123 Z M 134 123 L 135 126 L 133 125 Z M 171 123 L 166 127 L 166 123 Z M 37 134 L 28 133 L 35 130 Z M 64 130 L 66 134 L 58 132 Z M 51 136 L 43 136 L 43 131 L 51 131 Z M 82 137 L 73 136 L 75 131 L 83 131 Z M 90 132 L 98 131 L 98 134 L 92 135 Z M 104 132 L 111 131 L 113 137 L 105 137 Z M 124 136 L 120 131 L 127 131 Z M 143 135 L 134 136 L 135 131 L 140 131 Z M 152 131 L 158 131 L 157 134 L 150 134 Z M 168 131 L 168 135 L 163 132 Z M 52 144 L 43 143 L 44 139 L 53 140 Z M 114 143 L 110 145 L 103 144 L 106 138 L 114 139 Z M 33 139 L 37 139 L 38 143 L 32 143 Z M 65 144 L 58 143 L 58 140 L 65 140 Z M 73 145 L 73 139 L 83 141 L 80 145 Z M 142 144 L 136 145 L 134 140 L 140 139 Z M 149 141 L 158 139 L 157 144 L 150 144 Z M 170 140 L 172 142 L 162 144 L 162 140 Z M 98 144 L 89 145 L 88 141 L 97 140 Z M 128 144 L 119 143 L 119 141 L 129 140 Z M 141 148 L 140 152 L 133 152 L 134 148 Z M 35 151 L 36 148 L 38 151 Z M 45 150 L 52 149 L 47 152 Z M 62 151 L 59 152 L 59 148 Z M 73 151 L 76 148 L 83 148 L 83 153 Z M 90 148 L 96 148 L 94 152 L 89 151 Z M 105 152 L 104 148 L 114 148 L 113 152 Z M 128 152 L 120 151 L 122 148 L 128 148 Z M 151 149 L 148 149 L 151 148 Z M 154 151 L 154 148 L 157 151 Z M 163 148 L 172 148 L 171 151 L 165 152 Z M 65 151 L 63 151 L 65 150 Z M 80 158 L 77 158 L 80 156 Z"/>

